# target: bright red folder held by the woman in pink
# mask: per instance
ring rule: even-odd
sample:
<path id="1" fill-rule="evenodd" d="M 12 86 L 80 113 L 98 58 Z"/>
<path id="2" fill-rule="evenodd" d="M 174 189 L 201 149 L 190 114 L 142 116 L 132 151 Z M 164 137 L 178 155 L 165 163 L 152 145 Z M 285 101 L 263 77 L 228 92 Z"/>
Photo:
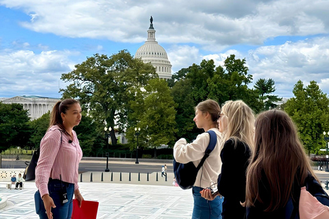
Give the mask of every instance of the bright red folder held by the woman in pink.
<path id="1" fill-rule="evenodd" d="M 73 199 L 72 219 L 96 219 L 98 205 L 98 201 L 82 201 L 79 207 L 79 201 Z"/>

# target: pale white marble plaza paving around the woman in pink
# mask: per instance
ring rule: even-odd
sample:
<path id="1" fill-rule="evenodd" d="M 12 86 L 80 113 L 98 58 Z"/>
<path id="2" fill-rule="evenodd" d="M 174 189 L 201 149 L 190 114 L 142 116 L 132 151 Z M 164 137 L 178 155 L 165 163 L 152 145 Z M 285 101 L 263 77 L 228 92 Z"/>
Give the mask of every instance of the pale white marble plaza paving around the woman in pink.
<path id="1" fill-rule="evenodd" d="M 119 183 L 79 183 L 84 199 L 99 201 L 97 218 L 171 219 L 191 218 L 191 190 L 168 185 Z M 37 219 L 34 211 L 34 182 L 25 182 L 23 190 L 0 188 L 8 196 L 8 205 L 0 209 L 1 219 Z"/>

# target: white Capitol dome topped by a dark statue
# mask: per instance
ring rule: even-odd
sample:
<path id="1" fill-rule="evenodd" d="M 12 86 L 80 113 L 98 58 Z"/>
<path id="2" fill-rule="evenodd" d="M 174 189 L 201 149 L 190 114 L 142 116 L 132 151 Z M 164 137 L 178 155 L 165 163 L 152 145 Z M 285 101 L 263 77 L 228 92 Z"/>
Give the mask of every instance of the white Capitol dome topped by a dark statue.
<path id="1" fill-rule="evenodd" d="M 153 27 L 153 18 L 147 30 L 147 40 L 137 49 L 135 57 L 141 58 L 144 63 L 149 63 L 156 68 L 156 73 L 161 79 L 171 79 L 171 64 L 167 52 L 156 42 L 156 30 Z"/>

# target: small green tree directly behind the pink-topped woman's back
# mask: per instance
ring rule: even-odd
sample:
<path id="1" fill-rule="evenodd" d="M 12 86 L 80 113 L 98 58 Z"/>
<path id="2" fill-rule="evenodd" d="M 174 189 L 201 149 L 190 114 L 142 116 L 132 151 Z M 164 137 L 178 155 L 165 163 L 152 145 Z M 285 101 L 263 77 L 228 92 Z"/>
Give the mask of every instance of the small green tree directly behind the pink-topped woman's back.
<path id="1" fill-rule="evenodd" d="M 40 146 L 40 142 L 45 136 L 45 133 L 49 127 L 50 122 L 50 112 L 43 114 L 40 118 L 32 120 L 29 122 L 29 126 L 31 127 L 32 133 L 29 138 L 29 145 L 38 148 Z"/>

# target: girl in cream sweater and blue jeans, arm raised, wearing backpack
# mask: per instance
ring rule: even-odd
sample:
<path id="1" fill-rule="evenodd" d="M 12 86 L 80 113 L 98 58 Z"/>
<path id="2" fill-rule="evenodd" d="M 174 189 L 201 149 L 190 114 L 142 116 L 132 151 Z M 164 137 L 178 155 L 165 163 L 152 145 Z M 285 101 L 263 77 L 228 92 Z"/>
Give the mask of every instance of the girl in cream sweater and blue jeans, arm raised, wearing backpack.
<path id="1" fill-rule="evenodd" d="M 195 107 L 195 117 L 193 118 L 195 125 L 197 125 L 198 129 L 204 129 L 204 131 L 214 131 L 217 136 L 217 144 L 204 162 L 202 168 L 197 172 L 197 178 L 192 188 L 194 199 L 193 219 L 221 218 L 221 203 L 223 203 L 223 197 L 217 196 L 214 200 L 208 201 L 202 198 L 200 194 L 202 190 L 208 188 L 213 182 L 217 181 L 217 177 L 221 172 L 221 159 L 219 154 L 223 142 L 217 124 L 220 112 L 221 108 L 218 103 L 212 100 L 203 101 Z M 205 155 L 209 142 L 210 136 L 208 133 L 199 134 L 191 143 L 181 138 L 173 147 L 173 156 L 175 160 L 181 164 L 193 162 L 195 166 L 198 166 L 202 157 Z"/>

